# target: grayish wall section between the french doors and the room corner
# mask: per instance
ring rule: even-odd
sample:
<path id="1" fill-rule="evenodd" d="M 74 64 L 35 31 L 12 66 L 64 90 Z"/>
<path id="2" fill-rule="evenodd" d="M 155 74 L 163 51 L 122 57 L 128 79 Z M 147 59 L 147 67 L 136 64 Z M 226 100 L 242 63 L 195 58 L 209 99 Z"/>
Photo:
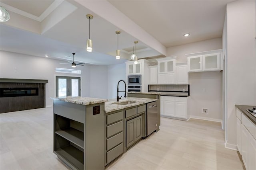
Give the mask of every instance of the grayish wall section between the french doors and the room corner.
<path id="1" fill-rule="evenodd" d="M 90 66 L 90 97 L 108 99 L 108 66 Z"/>

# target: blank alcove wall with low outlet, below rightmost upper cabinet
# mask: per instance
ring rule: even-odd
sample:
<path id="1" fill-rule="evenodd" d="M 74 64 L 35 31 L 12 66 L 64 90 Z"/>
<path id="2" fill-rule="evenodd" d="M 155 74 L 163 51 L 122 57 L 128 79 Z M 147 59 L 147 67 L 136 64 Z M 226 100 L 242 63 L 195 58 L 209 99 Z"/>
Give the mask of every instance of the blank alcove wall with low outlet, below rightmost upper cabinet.
<path id="1" fill-rule="evenodd" d="M 212 121 L 222 121 L 222 72 L 189 73 L 190 116 Z M 208 114 L 202 113 L 208 109 Z"/>

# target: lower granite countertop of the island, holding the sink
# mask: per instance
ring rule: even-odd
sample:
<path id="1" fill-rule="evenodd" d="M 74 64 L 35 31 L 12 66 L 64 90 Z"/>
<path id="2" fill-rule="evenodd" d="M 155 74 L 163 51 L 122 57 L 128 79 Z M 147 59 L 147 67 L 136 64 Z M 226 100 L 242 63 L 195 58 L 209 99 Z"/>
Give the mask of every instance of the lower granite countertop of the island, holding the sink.
<path id="1" fill-rule="evenodd" d="M 126 104 L 126 105 L 115 104 L 115 103 L 121 103 L 126 101 L 131 101 L 136 103 Z M 127 98 L 122 98 L 121 100 L 119 100 L 119 102 L 116 102 L 116 99 L 112 99 L 112 100 L 108 100 L 108 102 L 105 102 L 105 113 L 117 111 L 120 109 L 125 109 L 132 106 L 138 106 L 141 104 L 146 104 L 154 101 L 157 101 L 157 99 L 127 97 Z"/>

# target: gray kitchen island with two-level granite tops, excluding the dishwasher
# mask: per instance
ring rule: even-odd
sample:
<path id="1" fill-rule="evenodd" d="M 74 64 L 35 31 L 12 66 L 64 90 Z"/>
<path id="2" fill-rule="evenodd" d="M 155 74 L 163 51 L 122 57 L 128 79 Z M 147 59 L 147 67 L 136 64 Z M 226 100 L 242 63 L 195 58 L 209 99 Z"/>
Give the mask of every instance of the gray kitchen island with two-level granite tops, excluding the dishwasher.
<path id="1" fill-rule="evenodd" d="M 104 169 L 146 137 L 146 106 L 158 100 L 52 99 L 54 153 L 72 169 Z"/>

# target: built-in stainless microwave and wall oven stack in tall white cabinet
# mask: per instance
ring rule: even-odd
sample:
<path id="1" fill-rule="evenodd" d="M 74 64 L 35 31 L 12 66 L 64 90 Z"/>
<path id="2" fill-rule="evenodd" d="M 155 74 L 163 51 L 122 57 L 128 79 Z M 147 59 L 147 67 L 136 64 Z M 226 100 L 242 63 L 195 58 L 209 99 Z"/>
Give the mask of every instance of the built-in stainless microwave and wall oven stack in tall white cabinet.
<path id="1" fill-rule="evenodd" d="M 141 74 L 129 75 L 127 80 L 128 92 L 141 92 Z"/>

